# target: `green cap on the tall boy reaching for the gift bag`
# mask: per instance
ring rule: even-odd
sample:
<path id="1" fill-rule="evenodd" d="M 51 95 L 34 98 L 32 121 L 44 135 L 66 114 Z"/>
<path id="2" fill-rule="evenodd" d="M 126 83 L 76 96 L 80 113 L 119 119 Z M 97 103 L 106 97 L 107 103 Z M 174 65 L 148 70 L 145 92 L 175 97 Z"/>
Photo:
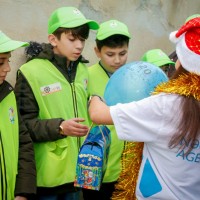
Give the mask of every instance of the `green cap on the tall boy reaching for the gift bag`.
<path id="1" fill-rule="evenodd" d="M 61 7 L 55 10 L 48 21 L 48 33 L 53 33 L 56 29 L 75 28 L 83 24 L 88 24 L 90 29 L 97 30 L 99 24 L 94 20 L 86 19 L 85 16 L 75 7 Z"/>

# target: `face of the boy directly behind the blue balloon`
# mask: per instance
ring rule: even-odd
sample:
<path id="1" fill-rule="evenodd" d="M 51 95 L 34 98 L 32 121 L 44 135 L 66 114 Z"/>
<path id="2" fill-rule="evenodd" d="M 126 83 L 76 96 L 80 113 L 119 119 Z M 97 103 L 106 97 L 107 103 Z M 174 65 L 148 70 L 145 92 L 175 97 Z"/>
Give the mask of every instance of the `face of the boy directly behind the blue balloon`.
<path id="1" fill-rule="evenodd" d="M 128 57 L 128 46 L 127 44 L 116 48 L 103 46 L 100 51 L 95 47 L 95 52 L 98 58 L 100 58 L 103 67 L 108 72 L 114 73 L 126 63 Z"/>

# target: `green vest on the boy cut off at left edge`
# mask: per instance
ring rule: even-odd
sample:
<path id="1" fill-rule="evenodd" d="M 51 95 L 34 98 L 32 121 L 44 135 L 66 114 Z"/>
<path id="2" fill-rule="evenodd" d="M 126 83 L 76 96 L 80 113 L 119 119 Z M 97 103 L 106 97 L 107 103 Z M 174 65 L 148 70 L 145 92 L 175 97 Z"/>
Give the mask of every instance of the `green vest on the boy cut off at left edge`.
<path id="1" fill-rule="evenodd" d="M 19 125 L 14 92 L 0 102 L 0 199 L 13 200 L 18 169 Z"/>

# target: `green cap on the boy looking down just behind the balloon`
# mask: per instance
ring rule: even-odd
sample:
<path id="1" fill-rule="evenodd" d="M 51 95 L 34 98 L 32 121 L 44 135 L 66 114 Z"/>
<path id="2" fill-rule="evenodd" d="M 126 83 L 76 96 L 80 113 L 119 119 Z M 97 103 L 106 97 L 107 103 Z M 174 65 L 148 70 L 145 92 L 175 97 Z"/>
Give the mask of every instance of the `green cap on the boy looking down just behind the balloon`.
<path id="1" fill-rule="evenodd" d="M 128 38 L 131 38 L 128 27 L 124 23 L 117 20 L 109 20 L 100 24 L 96 38 L 98 40 L 104 40 L 111 35 L 116 34 L 125 35 Z"/>

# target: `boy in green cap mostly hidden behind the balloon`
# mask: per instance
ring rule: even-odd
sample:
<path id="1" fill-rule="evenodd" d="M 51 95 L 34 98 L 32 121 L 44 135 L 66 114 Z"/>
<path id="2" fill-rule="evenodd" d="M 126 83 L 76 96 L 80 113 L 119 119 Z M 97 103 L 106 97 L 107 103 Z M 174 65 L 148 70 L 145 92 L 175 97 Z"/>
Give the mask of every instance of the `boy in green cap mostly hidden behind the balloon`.
<path id="1" fill-rule="evenodd" d="M 151 49 L 147 51 L 142 56 L 141 60 L 160 67 L 169 78 L 175 71 L 175 62 L 173 62 L 161 49 Z"/>

